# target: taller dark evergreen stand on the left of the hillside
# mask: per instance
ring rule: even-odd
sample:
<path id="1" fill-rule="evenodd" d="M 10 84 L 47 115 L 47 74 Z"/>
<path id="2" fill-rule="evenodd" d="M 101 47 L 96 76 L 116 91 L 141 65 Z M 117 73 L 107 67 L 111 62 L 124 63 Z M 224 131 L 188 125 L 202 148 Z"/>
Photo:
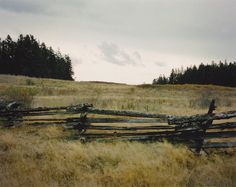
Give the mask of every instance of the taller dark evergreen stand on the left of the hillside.
<path id="1" fill-rule="evenodd" d="M 40 43 L 33 35 L 13 41 L 0 38 L 0 74 L 73 80 L 71 59 Z"/>

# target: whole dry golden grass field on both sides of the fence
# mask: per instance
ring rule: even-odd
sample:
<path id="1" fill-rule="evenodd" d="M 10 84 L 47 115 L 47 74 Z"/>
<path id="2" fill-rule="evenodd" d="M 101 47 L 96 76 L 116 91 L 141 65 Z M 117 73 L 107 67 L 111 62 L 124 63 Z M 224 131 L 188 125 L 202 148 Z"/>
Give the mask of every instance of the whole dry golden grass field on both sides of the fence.
<path id="1" fill-rule="evenodd" d="M 0 75 L 0 97 L 27 106 L 92 103 L 96 108 L 192 115 L 236 108 L 236 88 L 125 85 Z M 166 143 L 69 141 L 62 127 L 0 129 L 0 186 L 236 186 L 234 150 L 195 155 Z"/>

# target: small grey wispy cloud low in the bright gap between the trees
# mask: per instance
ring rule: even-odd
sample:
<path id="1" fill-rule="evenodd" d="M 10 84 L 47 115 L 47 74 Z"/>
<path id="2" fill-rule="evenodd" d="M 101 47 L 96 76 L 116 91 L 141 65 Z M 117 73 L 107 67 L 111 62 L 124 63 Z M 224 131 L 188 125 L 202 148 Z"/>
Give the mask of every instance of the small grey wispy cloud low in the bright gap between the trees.
<path id="1" fill-rule="evenodd" d="M 98 45 L 98 48 L 107 62 L 117 65 L 140 65 L 141 55 L 138 55 L 138 52 L 134 53 L 135 55 L 133 56 L 120 49 L 116 44 L 107 42 L 102 42 L 102 44 Z"/>

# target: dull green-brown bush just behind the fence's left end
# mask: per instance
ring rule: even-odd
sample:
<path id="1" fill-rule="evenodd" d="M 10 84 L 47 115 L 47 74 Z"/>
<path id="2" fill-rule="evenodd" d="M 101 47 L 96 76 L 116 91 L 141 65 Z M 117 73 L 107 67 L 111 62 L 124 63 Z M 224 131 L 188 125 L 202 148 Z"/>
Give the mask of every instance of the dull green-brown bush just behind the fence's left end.
<path id="1" fill-rule="evenodd" d="M 22 107 L 27 108 L 32 105 L 36 93 L 37 93 L 36 89 L 9 87 L 2 93 L 2 96 L 7 101 L 20 102 L 22 103 Z"/>

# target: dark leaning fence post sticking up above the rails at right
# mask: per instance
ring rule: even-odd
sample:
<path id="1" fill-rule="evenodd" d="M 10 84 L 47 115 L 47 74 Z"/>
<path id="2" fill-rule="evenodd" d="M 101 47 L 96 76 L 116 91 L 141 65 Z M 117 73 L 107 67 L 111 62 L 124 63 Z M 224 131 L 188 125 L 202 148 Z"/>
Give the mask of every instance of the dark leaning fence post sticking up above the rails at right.
<path id="1" fill-rule="evenodd" d="M 209 109 L 208 109 L 208 112 L 207 112 L 207 115 L 208 116 L 211 116 L 213 114 L 213 111 L 216 109 L 216 106 L 215 106 L 215 99 L 212 99 L 211 103 L 210 103 L 210 106 L 209 106 Z M 207 120 L 207 121 L 204 121 L 202 125 L 202 131 L 200 133 L 200 140 L 197 142 L 197 147 L 196 147 L 196 153 L 200 153 L 201 152 L 201 149 L 202 149 L 202 146 L 203 146 L 203 143 L 204 143 L 204 138 L 205 138 L 205 134 L 206 134 L 206 130 L 209 128 L 209 126 L 212 124 L 213 120 Z"/>

